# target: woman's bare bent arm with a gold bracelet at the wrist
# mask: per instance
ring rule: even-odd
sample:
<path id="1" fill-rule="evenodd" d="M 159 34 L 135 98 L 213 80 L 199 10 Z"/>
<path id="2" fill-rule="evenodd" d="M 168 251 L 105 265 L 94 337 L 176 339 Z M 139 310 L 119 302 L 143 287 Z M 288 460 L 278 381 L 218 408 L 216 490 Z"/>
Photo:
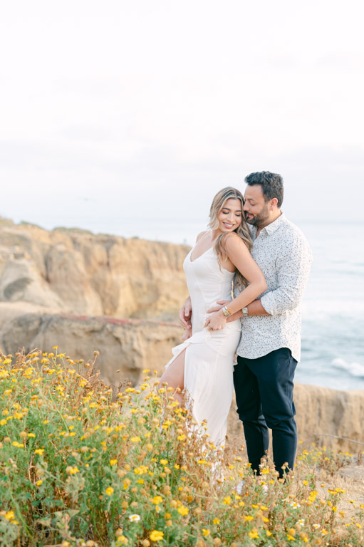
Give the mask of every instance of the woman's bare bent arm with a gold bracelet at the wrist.
<path id="1" fill-rule="evenodd" d="M 264 293 L 267 286 L 261 269 L 239 236 L 229 234 L 225 241 L 225 248 L 229 261 L 249 281 L 249 285 L 244 288 L 244 291 L 241 291 L 227 306 L 229 312 L 234 314 L 256 300 L 261 293 Z M 227 318 L 224 316 L 224 313 L 222 313 L 222 310 L 219 310 L 207 319 L 205 326 L 209 325 L 209 328 L 212 328 L 212 330 L 218 330 L 219 328 L 224 328 L 226 321 Z"/>

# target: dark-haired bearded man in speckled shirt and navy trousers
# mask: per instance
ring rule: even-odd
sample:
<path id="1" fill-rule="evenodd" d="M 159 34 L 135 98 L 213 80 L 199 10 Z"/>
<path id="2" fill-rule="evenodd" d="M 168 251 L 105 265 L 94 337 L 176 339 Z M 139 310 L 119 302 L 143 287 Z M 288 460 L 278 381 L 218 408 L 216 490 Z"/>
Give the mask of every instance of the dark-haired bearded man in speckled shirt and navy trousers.
<path id="1" fill-rule="evenodd" d="M 301 357 L 301 301 L 312 256 L 301 230 L 281 212 L 281 175 L 256 172 L 245 182 L 244 212 L 251 224 L 251 254 L 268 288 L 259 300 L 230 318 L 242 317 L 234 368 L 236 412 L 244 425 L 251 468 L 259 474 L 270 428 L 274 464 L 281 477 L 293 468 L 296 455 L 293 376 Z"/>

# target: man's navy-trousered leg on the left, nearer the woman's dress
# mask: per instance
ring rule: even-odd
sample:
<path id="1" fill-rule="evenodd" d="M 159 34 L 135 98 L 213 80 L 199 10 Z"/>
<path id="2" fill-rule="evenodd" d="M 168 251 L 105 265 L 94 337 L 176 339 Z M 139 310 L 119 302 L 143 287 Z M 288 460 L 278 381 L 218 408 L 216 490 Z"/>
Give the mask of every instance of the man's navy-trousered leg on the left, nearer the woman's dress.
<path id="1" fill-rule="evenodd" d="M 234 387 L 236 393 L 236 412 L 244 425 L 246 449 L 251 468 L 260 474 L 259 464 L 269 448 L 269 431 L 261 410 L 261 398 L 256 376 L 248 363 L 255 359 L 238 356 L 234 367 Z M 254 370 L 254 368 L 253 368 Z"/>

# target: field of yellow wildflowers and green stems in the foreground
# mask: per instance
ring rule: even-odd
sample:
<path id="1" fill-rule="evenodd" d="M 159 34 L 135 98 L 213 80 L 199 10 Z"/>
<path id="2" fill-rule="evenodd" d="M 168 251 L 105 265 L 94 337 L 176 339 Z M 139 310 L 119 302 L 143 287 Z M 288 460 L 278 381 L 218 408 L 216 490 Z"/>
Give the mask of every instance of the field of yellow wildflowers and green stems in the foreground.
<path id="1" fill-rule="evenodd" d="M 364 545 L 364 505 L 335 484 L 348 455 L 311 447 L 256 479 L 149 371 L 115 393 L 54 349 L 0 357 L 0 546 Z"/>

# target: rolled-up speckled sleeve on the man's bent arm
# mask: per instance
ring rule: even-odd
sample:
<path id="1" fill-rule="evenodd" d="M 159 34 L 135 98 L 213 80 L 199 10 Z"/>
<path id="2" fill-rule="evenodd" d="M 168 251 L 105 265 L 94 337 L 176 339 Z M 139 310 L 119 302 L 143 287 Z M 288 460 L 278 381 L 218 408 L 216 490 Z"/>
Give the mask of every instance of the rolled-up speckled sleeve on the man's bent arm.
<path id="1" fill-rule="evenodd" d="M 278 287 L 261 297 L 261 305 L 271 316 L 301 303 L 311 270 L 312 254 L 306 239 L 303 236 L 289 239 L 276 259 Z"/>

